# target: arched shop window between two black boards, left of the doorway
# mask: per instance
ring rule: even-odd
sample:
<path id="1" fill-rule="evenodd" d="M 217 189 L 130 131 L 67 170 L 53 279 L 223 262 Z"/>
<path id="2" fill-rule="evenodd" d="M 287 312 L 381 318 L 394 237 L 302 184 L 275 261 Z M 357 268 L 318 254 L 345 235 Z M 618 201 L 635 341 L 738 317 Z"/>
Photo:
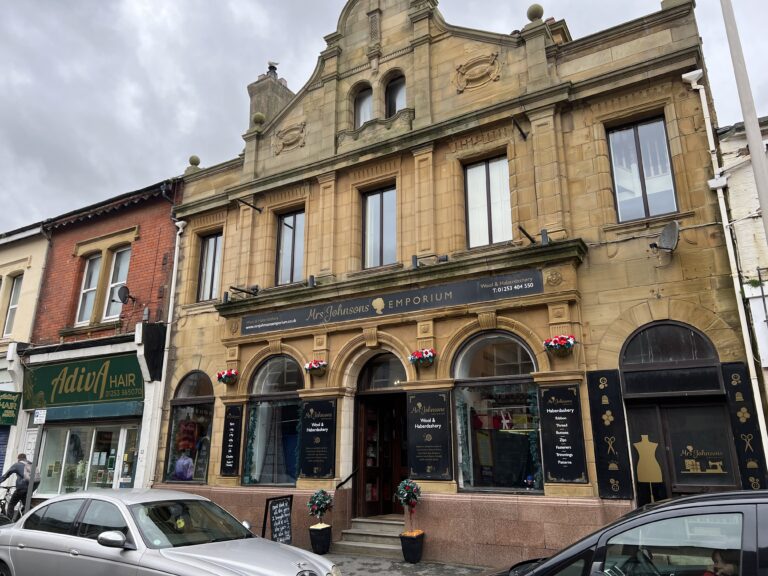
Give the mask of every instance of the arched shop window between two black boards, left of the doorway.
<path id="1" fill-rule="evenodd" d="M 251 381 L 243 484 L 296 483 L 301 401 L 304 385 L 299 364 L 273 356 Z"/>

